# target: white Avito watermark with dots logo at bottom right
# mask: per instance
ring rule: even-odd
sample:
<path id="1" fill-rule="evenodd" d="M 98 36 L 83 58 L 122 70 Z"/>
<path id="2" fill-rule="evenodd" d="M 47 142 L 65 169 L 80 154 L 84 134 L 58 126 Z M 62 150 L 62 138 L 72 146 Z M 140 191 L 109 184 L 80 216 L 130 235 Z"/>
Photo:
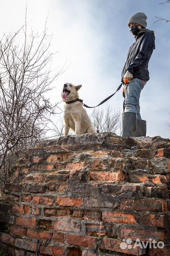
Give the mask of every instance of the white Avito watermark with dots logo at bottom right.
<path id="1" fill-rule="evenodd" d="M 135 249 L 136 247 L 140 247 L 141 249 L 142 248 L 146 249 L 148 245 L 150 249 L 151 248 L 162 249 L 165 246 L 164 242 L 162 241 L 157 242 L 155 239 L 152 239 L 152 238 L 149 238 L 149 241 L 147 242 L 140 241 L 140 239 L 137 238 L 133 244 L 132 244 L 132 239 L 127 238 L 127 239 L 123 239 L 123 242 L 120 243 L 120 248 L 122 250 L 132 249 L 132 248 Z"/>

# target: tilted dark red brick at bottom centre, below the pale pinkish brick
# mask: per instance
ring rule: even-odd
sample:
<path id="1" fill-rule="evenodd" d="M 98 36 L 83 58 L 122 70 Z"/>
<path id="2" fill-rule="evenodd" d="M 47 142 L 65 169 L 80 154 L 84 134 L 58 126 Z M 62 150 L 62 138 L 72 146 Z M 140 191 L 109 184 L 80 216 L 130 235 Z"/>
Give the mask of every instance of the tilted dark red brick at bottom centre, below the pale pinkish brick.
<path id="1" fill-rule="evenodd" d="M 90 248 L 97 247 L 97 238 L 94 238 L 94 237 L 66 234 L 66 241 L 71 245 L 78 245 L 78 246 L 90 247 Z"/>

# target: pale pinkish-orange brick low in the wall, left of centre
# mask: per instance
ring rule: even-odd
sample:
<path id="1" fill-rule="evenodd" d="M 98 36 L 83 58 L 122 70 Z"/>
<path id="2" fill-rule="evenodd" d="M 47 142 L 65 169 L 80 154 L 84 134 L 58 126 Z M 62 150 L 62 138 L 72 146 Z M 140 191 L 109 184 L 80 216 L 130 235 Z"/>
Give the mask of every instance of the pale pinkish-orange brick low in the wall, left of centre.
<path id="1" fill-rule="evenodd" d="M 76 222 L 72 219 L 69 220 L 57 220 L 54 223 L 54 229 L 58 231 L 73 231 L 79 232 L 81 230 L 80 222 Z"/>

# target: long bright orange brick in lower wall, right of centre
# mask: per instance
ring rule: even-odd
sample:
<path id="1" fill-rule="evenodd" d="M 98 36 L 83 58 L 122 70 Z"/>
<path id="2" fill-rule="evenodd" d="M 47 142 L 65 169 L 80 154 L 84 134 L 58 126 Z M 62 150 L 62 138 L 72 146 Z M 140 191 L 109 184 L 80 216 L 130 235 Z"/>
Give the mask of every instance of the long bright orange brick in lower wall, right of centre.
<path id="1" fill-rule="evenodd" d="M 135 224 L 134 214 L 123 212 L 102 212 L 102 221 Z"/>

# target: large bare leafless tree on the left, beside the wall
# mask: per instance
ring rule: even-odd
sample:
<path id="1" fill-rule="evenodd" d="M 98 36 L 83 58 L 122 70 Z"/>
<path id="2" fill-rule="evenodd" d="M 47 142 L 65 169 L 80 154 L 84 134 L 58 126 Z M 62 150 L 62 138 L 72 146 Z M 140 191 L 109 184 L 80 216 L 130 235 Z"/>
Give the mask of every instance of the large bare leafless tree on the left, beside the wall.
<path id="1" fill-rule="evenodd" d="M 0 39 L 0 184 L 7 182 L 19 151 L 33 147 L 46 132 L 52 105 L 45 93 L 62 72 L 51 69 L 51 36 L 31 31 L 27 22 Z"/>

